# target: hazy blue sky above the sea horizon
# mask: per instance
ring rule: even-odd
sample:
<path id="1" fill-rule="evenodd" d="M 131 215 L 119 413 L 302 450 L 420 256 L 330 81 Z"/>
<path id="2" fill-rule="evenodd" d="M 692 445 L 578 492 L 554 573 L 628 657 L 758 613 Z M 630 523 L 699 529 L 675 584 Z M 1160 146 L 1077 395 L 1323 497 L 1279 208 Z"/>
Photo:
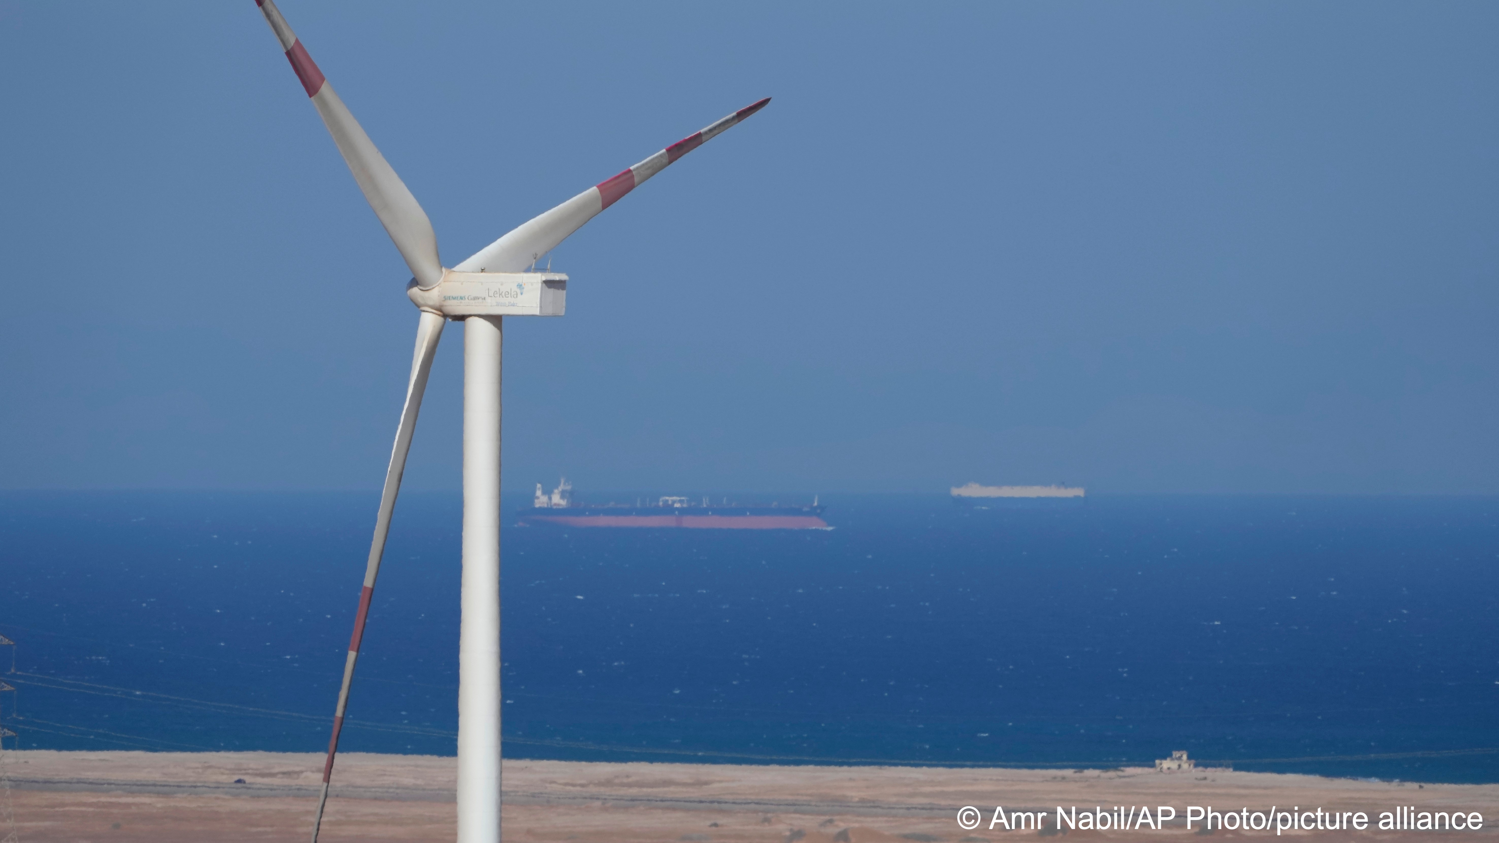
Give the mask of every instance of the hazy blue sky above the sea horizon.
<path id="1" fill-rule="evenodd" d="M 282 10 L 450 265 L 775 97 L 507 322 L 508 488 L 1499 491 L 1493 4 Z M 0 485 L 378 488 L 409 274 L 255 4 L 0 39 Z"/>

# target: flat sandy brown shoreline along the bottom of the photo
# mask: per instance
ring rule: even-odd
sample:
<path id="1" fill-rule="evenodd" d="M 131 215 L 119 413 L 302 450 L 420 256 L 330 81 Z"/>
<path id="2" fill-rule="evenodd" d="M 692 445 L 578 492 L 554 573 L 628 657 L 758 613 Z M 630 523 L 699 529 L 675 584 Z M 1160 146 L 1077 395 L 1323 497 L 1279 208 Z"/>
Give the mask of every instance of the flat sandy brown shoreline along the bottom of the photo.
<path id="1" fill-rule="evenodd" d="M 22 842 L 301 840 L 322 756 L 306 753 L 4 753 Z M 1160 831 L 1063 830 L 1069 837 L 1150 840 L 1195 834 L 1187 806 L 1216 810 L 1478 812 L 1480 831 L 1288 831 L 1324 839 L 1492 839 L 1499 785 L 1415 785 L 1271 773 L 747 767 L 718 764 L 505 762 L 505 837 L 535 842 L 979 843 L 1034 830 L 988 830 L 995 806 L 1172 806 Z M 243 780 L 237 783 L 235 780 Z M 348 753 L 334 771 L 327 840 L 453 840 L 454 759 Z M 980 828 L 956 822 L 962 806 Z M 1375 819 L 1378 822 L 1378 819 Z M 1201 824 L 1199 824 L 1201 825 Z M 0 837 L 6 830 L 0 828 Z M 1217 831 L 1217 837 L 1274 831 Z"/>

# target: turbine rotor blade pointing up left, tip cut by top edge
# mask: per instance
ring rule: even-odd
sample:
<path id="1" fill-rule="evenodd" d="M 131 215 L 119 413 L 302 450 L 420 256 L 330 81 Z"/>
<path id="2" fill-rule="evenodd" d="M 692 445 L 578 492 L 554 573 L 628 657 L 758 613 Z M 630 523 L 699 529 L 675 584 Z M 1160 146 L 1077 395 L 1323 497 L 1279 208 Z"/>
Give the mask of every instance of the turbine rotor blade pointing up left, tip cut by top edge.
<path id="1" fill-rule="evenodd" d="M 432 220 L 417 204 L 406 184 L 396 175 L 385 156 L 379 154 L 364 129 L 360 127 L 348 106 L 333 93 L 333 85 L 322 78 L 322 70 L 307 55 L 307 48 L 297 40 L 297 33 L 286 25 L 286 18 L 276 9 L 271 0 L 255 0 L 265 15 L 265 21 L 276 33 L 286 60 L 301 79 L 312 105 L 322 115 L 322 123 L 333 135 L 333 142 L 339 145 L 343 160 L 354 174 L 354 181 L 360 183 L 360 190 L 369 199 L 375 216 L 385 226 L 385 234 L 396 243 L 400 256 L 411 267 L 411 274 L 423 289 L 430 289 L 442 280 L 442 264 L 438 259 L 438 235 L 432 231 Z"/>

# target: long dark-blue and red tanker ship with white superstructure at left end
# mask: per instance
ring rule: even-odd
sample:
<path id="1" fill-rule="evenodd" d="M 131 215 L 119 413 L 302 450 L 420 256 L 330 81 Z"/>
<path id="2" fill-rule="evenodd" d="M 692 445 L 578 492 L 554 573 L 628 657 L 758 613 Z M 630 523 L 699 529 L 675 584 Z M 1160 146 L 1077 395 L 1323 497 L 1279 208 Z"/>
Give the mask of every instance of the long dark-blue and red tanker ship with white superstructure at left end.
<path id="1" fill-rule="evenodd" d="M 604 505 L 573 502 L 573 487 L 567 478 L 552 494 L 537 484 L 532 505 L 520 511 L 519 526 L 540 527 L 687 527 L 697 530 L 830 530 L 823 521 L 826 506 L 812 499 L 811 506 L 770 506 L 700 502 L 681 496 L 655 500 Z"/>

